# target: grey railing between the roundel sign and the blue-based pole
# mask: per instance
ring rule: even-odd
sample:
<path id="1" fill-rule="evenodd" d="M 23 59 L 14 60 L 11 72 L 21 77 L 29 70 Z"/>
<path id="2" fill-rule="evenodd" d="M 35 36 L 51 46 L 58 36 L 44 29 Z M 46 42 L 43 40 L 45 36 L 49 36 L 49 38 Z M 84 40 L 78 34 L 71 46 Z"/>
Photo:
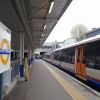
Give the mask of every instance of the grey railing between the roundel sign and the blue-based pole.
<path id="1" fill-rule="evenodd" d="M 5 96 L 7 89 L 11 83 L 17 78 L 19 74 L 20 62 L 19 60 L 11 61 L 11 67 L 9 70 L 3 73 L 3 95 Z"/>

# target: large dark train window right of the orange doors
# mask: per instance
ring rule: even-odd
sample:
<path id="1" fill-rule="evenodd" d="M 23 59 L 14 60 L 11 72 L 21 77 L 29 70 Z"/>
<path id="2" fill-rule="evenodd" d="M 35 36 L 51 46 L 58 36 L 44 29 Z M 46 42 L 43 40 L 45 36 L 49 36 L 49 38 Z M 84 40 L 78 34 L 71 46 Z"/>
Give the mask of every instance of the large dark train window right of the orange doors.
<path id="1" fill-rule="evenodd" d="M 100 70 L 100 47 L 91 45 L 85 50 L 86 66 L 92 69 Z"/>

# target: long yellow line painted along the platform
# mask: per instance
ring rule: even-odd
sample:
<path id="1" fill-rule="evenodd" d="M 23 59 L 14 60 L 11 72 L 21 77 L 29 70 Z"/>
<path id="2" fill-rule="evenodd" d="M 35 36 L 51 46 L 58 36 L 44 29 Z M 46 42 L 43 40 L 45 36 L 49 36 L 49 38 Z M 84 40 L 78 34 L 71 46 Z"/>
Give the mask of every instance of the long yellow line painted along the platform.
<path id="1" fill-rule="evenodd" d="M 55 79 L 62 85 L 62 87 L 71 95 L 73 100 L 88 100 L 83 94 L 81 94 L 75 87 L 68 83 L 64 78 L 62 78 L 55 70 L 49 67 L 46 63 L 42 61 L 45 67 L 50 71 L 50 73 L 55 77 Z"/>

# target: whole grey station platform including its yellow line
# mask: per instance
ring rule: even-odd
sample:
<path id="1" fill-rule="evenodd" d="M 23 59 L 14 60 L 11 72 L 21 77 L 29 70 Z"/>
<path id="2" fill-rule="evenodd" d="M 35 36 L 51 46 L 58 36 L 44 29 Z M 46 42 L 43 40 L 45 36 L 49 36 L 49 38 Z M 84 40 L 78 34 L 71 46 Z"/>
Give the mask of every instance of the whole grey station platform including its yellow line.
<path id="1" fill-rule="evenodd" d="M 38 59 L 32 64 L 29 80 L 18 82 L 5 100 L 100 100 L 100 96 Z"/>

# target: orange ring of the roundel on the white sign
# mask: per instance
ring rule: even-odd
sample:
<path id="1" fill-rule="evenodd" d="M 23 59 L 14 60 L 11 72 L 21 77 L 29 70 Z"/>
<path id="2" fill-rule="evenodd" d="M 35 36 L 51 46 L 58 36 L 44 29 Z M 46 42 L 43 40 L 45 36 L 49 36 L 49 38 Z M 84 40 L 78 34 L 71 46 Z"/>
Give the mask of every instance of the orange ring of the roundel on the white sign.
<path id="1" fill-rule="evenodd" d="M 3 48 L 3 46 L 6 45 L 7 46 L 7 49 L 9 49 L 9 43 L 6 39 L 3 39 L 1 41 L 1 45 L 0 45 L 0 48 Z M 4 58 L 3 54 L 0 54 L 0 58 L 1 58 L 1 62 L 2 64 L 6 65 L 8 60 L 9 60 L 9 54 L 7 54 L 7 57 Z"/>

